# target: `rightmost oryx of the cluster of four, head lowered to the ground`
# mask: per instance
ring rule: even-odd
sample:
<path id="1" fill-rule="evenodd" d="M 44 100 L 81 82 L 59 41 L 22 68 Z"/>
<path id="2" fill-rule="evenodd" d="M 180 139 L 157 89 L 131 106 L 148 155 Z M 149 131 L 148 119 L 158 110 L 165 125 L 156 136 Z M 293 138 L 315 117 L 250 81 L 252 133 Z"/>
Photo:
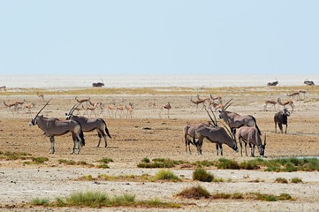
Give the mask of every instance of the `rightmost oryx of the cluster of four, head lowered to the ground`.
<path id="1" fill-rule="evenodd" d="M 257 129 L 252 126 L 242 126 L 239 128 L 239 144 L 240 144 L 240 154 L 242 153 L 242 144 L 241 141 L 244 141 L 245 143 L 245 152 L 247 155 L 247 143 L 249 144 L 249 147 L 251 148 L 250 155 L 254 157 L 254 147 L 257 146 L 259 155 L 262 157 L 265 155 L 265 148 L 266 148 L 266 134 L 265 138 L 262 144 L 262 138 L 260 134 L 258 133 Z"/>

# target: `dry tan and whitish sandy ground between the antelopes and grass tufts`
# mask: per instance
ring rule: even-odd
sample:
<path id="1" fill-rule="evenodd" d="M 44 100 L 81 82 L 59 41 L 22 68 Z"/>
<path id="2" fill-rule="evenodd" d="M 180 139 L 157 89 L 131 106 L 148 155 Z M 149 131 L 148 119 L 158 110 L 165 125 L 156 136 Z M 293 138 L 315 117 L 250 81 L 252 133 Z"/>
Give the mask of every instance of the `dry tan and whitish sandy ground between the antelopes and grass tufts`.
<path id="1" fill-rule="evenodd" d="M 234 88 L 233 88 L 234 89 Z M 294 99 L 295 111 L 289 117 L 288 133 L 275 133 L 273 117 L 275 110 L 269 106 L 263 109 L 265 100 L 277 100 L 277 94 L 271 92 L 265 95 L 249 95 L 244 89 L 238 92 L 223 94 L 226 102 L 233 98 L 231 111 L 239 114 L 253 115 L 257 119 L 262 133 L 267 133 L 266 153 L 268 159 L 282 156 L 318 156 L 319 152 L 319 95 L 308 94 L 304 100 Z M 287 93 L 289 87 L 286 88 Z M 215 94 L 218 95 L 218 94 Z M 201 95 L 209 96 L 209 94 Z M 85 133 L 86 146 L 80 155 L 70 155 L 72 138 L 70 134 L 56 137 L 56 154 L 49 155 L 49 139 L 37 126 L 29 126 L 31 118 L 41 109 L 46 100 L 49 105 L 42 114 L 46 117 L 65 118 L 64 114 L 75 102 L 74 95 L 46 95 L 45 101 L 36 95 L 0 95 L 2 101 L 14 102 L 26 100 L 36 102 L 31 114 L 23 111 L 11 112 L 4 106 L 0 109 L 0 151 L 25 152 L 34 157 L 48 157 L 49 161 L 42 165 L 27 165 L 22 160 L 0 160 L 0 210 L 16 211 L 319 211 L 319 173 L 314 172 L 265 172 L 262 170 L 209 170 L 216 178 L 231 179 L 224 183 L 199 183 L 192 180 L 193 169 L 171 169 L 178 176 L 189 179 L 184 182 L 130 182 L 130 181 L 79 181 L 82 176 L 100 174 L 112 176 L 154 175 L 158 169 L 140 169 L 137 164 L 141 159 L 170 158 L 196 162 L 216 160 L 215 144 L 204 142 L 203 155 L 197 155 L 194 147 L 193 154 L 186 155 L 183 136 L 183 126 L 189 123 L 206 122 L 209 117 L 205 110 L 196 110 L 190 102 L 191 95 L 79 95 L 80 98 L 90 97 L 92 102 L 103 102 L 104 106 L 115 102 L 128 104 L 133 102 L 135 108 L 133 117 L 114 117 L 114 112 L 104 110 L 103 117 L 107 122 L 112 139 L 108 139 L 108 148 L 96 148 L 98 138 L 95 133 Z M 196 95 L 192 95 L 193 99 Z M 283 93 L 283 100 L 288 97 Z M 301 97 L 303 97 L 301 95 Z M 303 99 L 303 98 L 302 98 Z M 149 108 L 148 102 L 156 102 L 156 108 Z M 167 110 L 159 106 L 171 102 L 170 118 Z M 277 106 L 276 110 L 281 110 Z M 83 111 L 80 111 L 82 114 Z M 216 112 L 218 114 L 218 112 Z M 94 115 L 92 115 L 94 117 Z M 222 123 L 222 122 L 220 122 Z M 259 155 L 257 150 L 255 155 Z M 97 164 L 97 161 L 109 157 L 114 162 L 110 169 L 86 168 L 83 166 L 66 166 L 59 159 L 85 161 Z M 224 146 L 224 158 L 244 161 L 252 159 L 241 156 L 231 148 Z M 301 178 L 301 184 L 275 183 L 276 178 Z M 253 181 L 258 182 L 253 182 Z M 247 200 L 180 200 L 174 197 L 186 187 L 201 184 L 209 193 L 269 193 L 279 195 L 289 193 L 295 201 L 247 201 Z M 34 198 L 55 200 L 74 191 L 103 191 L 114 194 L 132 193 L 138 200 L 159 198 L 163 201 L 194 203 L 180 209 L 158 208 L 19 208 Z M 13 208 L 14 207 L 14 208 Z M 11 208 L 11 209 L 10 209 Z M 12 209 L 13 208 L 13 209 Z"/>

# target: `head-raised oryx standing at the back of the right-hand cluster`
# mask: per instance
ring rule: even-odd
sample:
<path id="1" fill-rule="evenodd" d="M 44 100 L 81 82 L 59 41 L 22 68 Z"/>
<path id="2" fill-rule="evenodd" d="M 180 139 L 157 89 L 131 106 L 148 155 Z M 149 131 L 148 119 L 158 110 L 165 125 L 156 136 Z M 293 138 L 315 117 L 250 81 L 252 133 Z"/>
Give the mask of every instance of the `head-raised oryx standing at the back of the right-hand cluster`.
<path id="1" fill-rule="evenodd" d="M 226 111 L 227 108 L 232 105 L 232 103 L 229 103 L 231 101 L 232 99 L 226 102 L 222 110 L 218 110 L 218 111 L 219 111 L 219 118 L 223 118 L 224 122 L 231 128 L 233 136 L 235 136 L 236 128 L 239 128 L 243 125 L 254 126 L 257 129 L 258 133 L 261 135 L 262 133 L 258 128 L 256 119 L 253 116 L 251 115 L 240 116 L 238 113 Z"/>

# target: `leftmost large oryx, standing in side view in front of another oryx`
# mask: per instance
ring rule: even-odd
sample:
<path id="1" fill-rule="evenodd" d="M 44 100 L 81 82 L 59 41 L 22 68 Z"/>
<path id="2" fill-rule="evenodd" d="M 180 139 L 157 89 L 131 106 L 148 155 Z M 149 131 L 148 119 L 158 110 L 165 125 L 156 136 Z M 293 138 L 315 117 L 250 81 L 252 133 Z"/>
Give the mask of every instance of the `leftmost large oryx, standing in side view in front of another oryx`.
<path id="1" fill-rule="evenodd" d="M 79 122 L 74 120 L 59 120 L 55 117 L 43 117 L 39 116 L 41 111 L 49 104 L 49 101 L 42 107 L 41 110 L 32 118 L 29 125 L 38 125 L 43 133 L 49 137 L 51 148 L 49 154 L 55 153 L 55 136 L 64 135 L 66 133 L 72 133 L 73 148 L 71 154 L 74 154 L 76 144 L 78 144 L 78 154 L 80 154 L 80 148 L 84 147 L 85 140 L 82 131 L 82 127 Z"/>

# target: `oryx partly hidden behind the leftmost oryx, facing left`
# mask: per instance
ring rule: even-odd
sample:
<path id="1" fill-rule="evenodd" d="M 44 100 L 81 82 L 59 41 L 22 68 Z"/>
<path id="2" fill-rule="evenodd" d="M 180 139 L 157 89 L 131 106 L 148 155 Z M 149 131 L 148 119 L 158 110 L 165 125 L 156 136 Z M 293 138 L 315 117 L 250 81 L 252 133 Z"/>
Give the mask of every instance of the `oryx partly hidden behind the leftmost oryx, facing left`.
<path id="1" fill-rule="evenodd" d="M 74 120 L 76 122 L 79 122 L 82 126 L 83 132 L 92 132 L 96 130 L 97 136 L 99 137 L 99 142 L 96 146 L 96 148 L 100 147 L 100 143 L 102 140 L 102 137 L 104 139 L 104 148 L 107 148 L 108 143 L 106 141 L 106 134 L 111 139 L 109 129 L 105 123 L 105 121 L 102 118 L 87 118 L 87 117 L 79 117 L 73 115 L 73 112 L 75 110 L 75 105 L 72 107 L 72 109 L 69 111 L 69 113 L 65 113 L 66 120 Z"/>

